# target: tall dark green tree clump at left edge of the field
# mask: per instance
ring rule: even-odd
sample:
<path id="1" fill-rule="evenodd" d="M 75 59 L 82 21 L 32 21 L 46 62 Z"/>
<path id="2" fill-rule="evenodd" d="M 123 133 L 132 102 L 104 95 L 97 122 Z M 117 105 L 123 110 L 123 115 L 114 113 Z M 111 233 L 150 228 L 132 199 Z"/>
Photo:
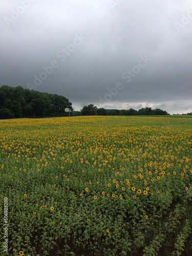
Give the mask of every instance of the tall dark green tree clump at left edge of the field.
<path id="1" fill-rule="evenodd" d="M 65 108 L 73 111 L 72 103 L 64 96 L 20 86 L 0 87 L 0 119 L 65 116 Z"/>

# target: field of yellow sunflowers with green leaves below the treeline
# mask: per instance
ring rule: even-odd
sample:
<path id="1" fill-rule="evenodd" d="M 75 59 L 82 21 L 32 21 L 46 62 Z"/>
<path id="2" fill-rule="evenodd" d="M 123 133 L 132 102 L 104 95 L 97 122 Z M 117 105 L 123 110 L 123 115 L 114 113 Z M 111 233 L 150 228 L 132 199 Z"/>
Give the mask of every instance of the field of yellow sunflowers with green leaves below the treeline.
<path id="1" fill-rule="evenodd" d="M 11 119 L 0 127 L 1 255 L 192 253 L 191 118 Z"/>

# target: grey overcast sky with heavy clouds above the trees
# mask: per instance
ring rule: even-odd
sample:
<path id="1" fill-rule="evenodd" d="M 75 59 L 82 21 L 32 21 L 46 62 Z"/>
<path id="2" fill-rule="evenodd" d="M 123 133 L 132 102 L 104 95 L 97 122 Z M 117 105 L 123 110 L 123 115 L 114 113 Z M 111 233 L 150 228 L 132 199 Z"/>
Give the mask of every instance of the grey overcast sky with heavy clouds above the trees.
<path id="1" fill-rule="evenodd" d="M 192 112 L 192 1 L 0 3 L 0 86 L 63 95 L 74 110 Z"/>

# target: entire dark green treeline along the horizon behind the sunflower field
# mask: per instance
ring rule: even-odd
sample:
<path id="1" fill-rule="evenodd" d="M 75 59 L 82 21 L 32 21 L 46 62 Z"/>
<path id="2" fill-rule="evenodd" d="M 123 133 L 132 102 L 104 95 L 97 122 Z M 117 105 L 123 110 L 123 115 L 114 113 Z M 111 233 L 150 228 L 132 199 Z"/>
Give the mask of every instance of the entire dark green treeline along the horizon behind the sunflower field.
<path id="1" fill-rule="evenodd" d="M 106 110 L 97 108 L 93 104 L 83 106 L 80 111 L 73 111 L 72 103 L 64 96 L 49 94 L 23 87 L 0 87 L 0 119 L 25 118 L 25 117 L 58 117 L 69 116 L 137 116 L 137 115 L 169 115 L 161 109 L 142 108 L 140 110 Z M 192 115 L 187 113 L 185 115 Z"/>

